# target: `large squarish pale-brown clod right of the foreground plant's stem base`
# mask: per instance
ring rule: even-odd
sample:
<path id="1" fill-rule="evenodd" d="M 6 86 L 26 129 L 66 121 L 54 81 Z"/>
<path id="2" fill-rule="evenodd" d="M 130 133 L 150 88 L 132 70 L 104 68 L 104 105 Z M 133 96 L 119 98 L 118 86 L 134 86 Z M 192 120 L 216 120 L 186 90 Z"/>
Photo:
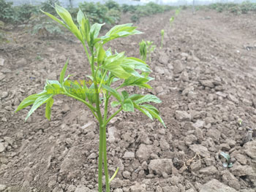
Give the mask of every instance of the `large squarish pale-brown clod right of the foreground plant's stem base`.
<path id="1" fill-rule="evenodd" d="M 173 161 L 170 158 L 153 159 L 148 164 L 150 173 L 162 176 L 162 172 L 172 173 Z"/>

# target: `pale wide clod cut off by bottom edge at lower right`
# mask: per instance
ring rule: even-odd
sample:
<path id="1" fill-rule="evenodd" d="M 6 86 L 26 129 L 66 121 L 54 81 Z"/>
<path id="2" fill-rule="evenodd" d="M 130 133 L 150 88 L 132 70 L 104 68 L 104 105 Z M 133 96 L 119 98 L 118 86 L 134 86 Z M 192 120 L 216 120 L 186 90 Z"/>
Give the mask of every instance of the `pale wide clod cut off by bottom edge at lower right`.
<path id="1" fill-rule="evenodd" d="M 205 185 L 203 185 L 200 188 L 200 192 L 221 192 L 221 191 L 225 191 L 225 192 L 238 192 L 236 191 L 236 189 L 234 188 L 230 188 L 229 186 L 220 183 L 218 180 L 210 180 L 208 183 L 206 183 Z"/>

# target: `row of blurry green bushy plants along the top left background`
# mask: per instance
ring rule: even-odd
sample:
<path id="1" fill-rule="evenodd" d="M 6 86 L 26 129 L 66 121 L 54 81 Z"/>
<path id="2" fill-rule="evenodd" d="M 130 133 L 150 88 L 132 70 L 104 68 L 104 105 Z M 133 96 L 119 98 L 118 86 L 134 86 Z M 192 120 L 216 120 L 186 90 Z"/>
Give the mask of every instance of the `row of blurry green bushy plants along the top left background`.
<path id="1" fill-rule="evenodd" d="M 28 20 L 34 18 L 33 15 L 42 15 L 40 9 L 50 12 L 50 14 L 56 16 L 53 5 L 59 4 L 59 0 L 47 0 L 42 2 L 39 6 L 31 4 L 23 4 L 20 6 L 13 6 L 12 2 L 0 0 L 0 20 L 4 23 L 20 24 L 27 23 Z M 86 12 L 86 16 L 89 18 L 91 23 L 107 23 L 110 25 L 116 24 L 121 18 L 121 13 L 129 12 L 132 14 L 132 21 L 138 21 L 139 18 L 153 15 L 167 10 L 173 9 L 170 6 L 162 6 L 154 4 L 152 2 L 143 6 L 133 6 L 122 4 L 119 5 L 116 1 L 108 0 L 105 4 L 99 2 L 83 2 L 79 4 L 79 8 L 67 7 L 70 14 L 75 18 L 78 9 L 82 12 Z M 75 20 L 76 23 L 76 20 Z"/>

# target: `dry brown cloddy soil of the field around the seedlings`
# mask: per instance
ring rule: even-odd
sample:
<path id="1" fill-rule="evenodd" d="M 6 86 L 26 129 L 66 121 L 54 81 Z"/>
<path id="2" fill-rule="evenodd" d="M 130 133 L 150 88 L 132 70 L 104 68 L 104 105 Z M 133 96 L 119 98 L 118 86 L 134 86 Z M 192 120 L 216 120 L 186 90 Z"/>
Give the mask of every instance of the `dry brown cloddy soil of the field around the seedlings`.
<path id="1" fill-rule="evenodd" d="M 256 50 L 248 49 L 256 45 L 255 15 L 187 10 L 170 28 L 172 15 L 143 18 L 137 25 L 144 34 L 110 45 L 137 57 L 141 39 L 157 45 L 148 62 L 155 78 L 148 92 L 162 99 L 157 107 L 167 125 L 138 112 L 111 120 L 110 174 L 119 167 L 111 191 L 255 191 Z M 67 58 L 73 80 L 85 78 L 82 47 L 68 33 L 49 39 L 17 29 L 8 35 L 15 40 L 0 45 L 0 191 L 97 191 L 99 130 L 88 110 L 58 96 L 50 121 L 44 107 L 27 123 L 29 108 L 13 114 L 45 79 L 59 77 Z M 135 91 L 147 92 L 129 90 Z M 249 128 L 252 139 L 245 137 Z M 222 166 L 221 151 L 232 167 Z"/>

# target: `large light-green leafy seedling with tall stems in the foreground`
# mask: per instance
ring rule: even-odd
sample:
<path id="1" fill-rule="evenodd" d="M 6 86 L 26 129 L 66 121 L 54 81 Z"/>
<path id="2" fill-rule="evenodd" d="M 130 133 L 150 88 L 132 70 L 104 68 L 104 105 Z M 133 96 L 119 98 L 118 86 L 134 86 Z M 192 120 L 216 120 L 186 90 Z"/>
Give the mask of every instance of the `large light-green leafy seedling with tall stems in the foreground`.
<path id="1" fill-rule="evenodd" d="M 128 23 L 114 26 L 107 34 L 99 37 L 99 31 L 104 24 L 95 23 L 91 26 L 86 15 L 79 10 L 77 15 L 78 26 L 76 26 L 67 9 L 57 4 L 55 9 L 61 19 L 48 12 L 44 13 L 57 23 L 60 23 L 61 26 L 67 28 L 80 40 L 91 68 L 91 75 L 89 75 L 91 83 L 69 80 L 70 75 L 67 75 L 67 77 L 65 75 L 69 63 L 67 60 L 61 70 L 59 80 L 46 80 L 44 90 L 24 99 L 16 112 L 32 105 L 26 116 L 27 120 L 38 107 L 46 104 L 45 117 L 50 120 L 53 97 L 58 94 L 69 96 L 85 104 L 85 107 L 91 110 L 99 122 L 98 190 L 102 192 L 102 169 L 104 164 L 105 191 L 109 192 L 110 182 L 118 172 L 117 168 L 113 177 L 109 177 L 106 129 L 110 120 L 121 111 L 134 112 L 136 109 L 151 118 L 151 120 L 159 120 L 165 126 L 164 121 L 159 116 L 159 110 L 148 104 L 150 102 L 160 103 L 161 101 L 157 96 L 151 94 L 129 94 L 127 91 L 119 91 L 120 88 L 124 90 L 129 86 L 151 88 L 148 82 L 153 78 L 148 76 L 151 73 L 148 65 L 139 58 L 127 57 L 124 52 L 112 53 L 111 47 L 108 50 L 105 49 L 107 43 L 112 39 L 141 34 L 141 32 Z M 109 104 L 110 101 L 112 101 L 111 104 Z M 116 112 L 113 112 L 113 114 L 109 112 L 110 106 L 116 108 Z"/>

